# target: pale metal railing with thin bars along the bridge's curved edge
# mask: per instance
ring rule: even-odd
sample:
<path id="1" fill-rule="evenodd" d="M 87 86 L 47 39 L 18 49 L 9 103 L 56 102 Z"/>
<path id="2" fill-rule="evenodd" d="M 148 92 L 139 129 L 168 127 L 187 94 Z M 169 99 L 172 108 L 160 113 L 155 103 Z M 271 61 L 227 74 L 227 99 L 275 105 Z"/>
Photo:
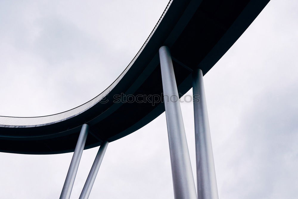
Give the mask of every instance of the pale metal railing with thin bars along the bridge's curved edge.
<path id="1" fill-rule="evenodd" d="M 100 102 L 108 93 L 119 83 L 119 81 L 122 79 L 122 77 L 126 74 L 126 72 L 131 68 L 131 66 L 134 64 L 136 59 L 139 57 L 145 46 L 147 45 L 148 41 L 152 37 L 153 33 L 156 31 L 156 28 L 159 26 L 160 22 L 164 18 L 165 13 L 169 9 L 171 3 L 173 0 L 170 0 L 167 4 L 167 7 L 165 8 L 164 12 L 162 13 L 162 16 L 159 18 L 158 22 L 154 26 L 153 30 L 151 31 L 150 35 L 146 39 L 145 43 L 142 45 L 141 49 L 138 51 L 138 53 L 134 56 L 133 60 L 128 64 L 128 66 L 125 68 L 125 70 L 118 76 L 118 78 L 103 92 L 101 92 L 99 95 L 97 95 L 95 98 L 89 100 L 88 102 L 75 107 L 73 109 L 60 112 L 53 115 L 46 115 L 46 116 L 38 116 L 38 117 L 9 117 L 9 116 L 0 116 L 0 125 L 1 126 L 18 126 L 18 127 L 26 127 L 26 126 L 39 126 L 39 125 L 46 125 L 46 124 L 52 124 L 55 122 L 63 121 L 69 118 L 74 117 L 75 115 L 78 115 L 87 109 L 91 108 L 98 102 Z"/>

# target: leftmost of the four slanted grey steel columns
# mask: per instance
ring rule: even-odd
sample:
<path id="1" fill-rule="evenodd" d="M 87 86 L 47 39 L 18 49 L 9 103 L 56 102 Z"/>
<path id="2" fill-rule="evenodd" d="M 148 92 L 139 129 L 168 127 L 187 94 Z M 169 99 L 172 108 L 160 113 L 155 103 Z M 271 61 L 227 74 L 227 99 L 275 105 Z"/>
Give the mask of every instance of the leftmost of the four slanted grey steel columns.
<path id="1" fill-rule="evenodd" d="M 70 166 L 66 175 L 66 179 L 61 191 L 60 199 L 69 199 L 70 194 L 72 192 L 72 187 L 75 182 L 75 176 L 77 175 L 77 169 L 79 167 L 79 163 L 81 160 L 81 156 L 84 150 L 86 138 L 88 135 L 89 126 L 87 124 L 83 124 L 81 128 L 81 132 L 79 138 L 77 140 L 77 145 L 75 146 L 75 152 L 72 156 L 72 161 L 70 162 Z"/>

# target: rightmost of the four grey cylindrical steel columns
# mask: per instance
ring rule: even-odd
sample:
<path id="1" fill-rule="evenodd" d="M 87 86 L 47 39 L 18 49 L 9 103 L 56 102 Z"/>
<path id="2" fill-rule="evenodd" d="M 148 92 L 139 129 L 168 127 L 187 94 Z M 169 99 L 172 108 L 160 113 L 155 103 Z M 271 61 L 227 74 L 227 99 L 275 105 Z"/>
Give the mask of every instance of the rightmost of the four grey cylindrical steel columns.
<path id="1" fill-rule="evenodd" d="M 198 199 L 218 199 L 207 104 L 201 69 L 193 72 L 193 110 Z"/>

